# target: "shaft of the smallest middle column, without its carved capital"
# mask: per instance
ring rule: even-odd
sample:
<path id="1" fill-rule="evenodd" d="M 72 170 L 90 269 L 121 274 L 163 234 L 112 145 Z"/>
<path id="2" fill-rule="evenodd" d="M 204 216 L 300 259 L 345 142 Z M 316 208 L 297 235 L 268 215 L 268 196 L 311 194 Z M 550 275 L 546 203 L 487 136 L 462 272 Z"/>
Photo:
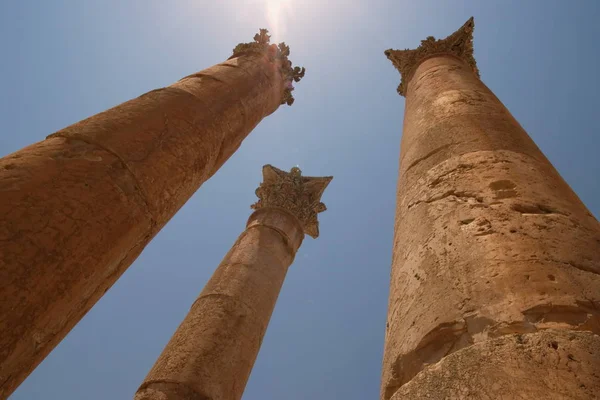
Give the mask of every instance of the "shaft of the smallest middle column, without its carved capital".
<path id="1" fill-rule="evenodd" d="M 200 399 L 241 398 L 297 250 L 287 246 L 281 232 L 290 236 L 301 232 L 292 216 L 282 211 L 268 212 L 279 213 L 277 217 L 286 222 L 280 227 L 285 230 L 254 224 L 242 233 L 150 371 L 136 399 L 187 399 L 176 394 L 180 386 L 190 388 Z M 172 385 L 162 387 L 164 383 Z"/>

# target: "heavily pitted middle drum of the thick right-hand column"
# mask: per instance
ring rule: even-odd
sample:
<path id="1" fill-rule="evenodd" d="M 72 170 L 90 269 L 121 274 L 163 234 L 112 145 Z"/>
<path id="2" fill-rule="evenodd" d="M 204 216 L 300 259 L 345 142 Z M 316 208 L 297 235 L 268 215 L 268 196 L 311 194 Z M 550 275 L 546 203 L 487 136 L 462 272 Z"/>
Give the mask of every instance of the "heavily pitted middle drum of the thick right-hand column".
<path id="1" fill-rule="evenodd" d="M 399 382 L 489 337 L 600 333 L 597 221 L 532 161 L 468 153 L 399 197 L 390 292 L 401 295 L 390 302 L 386 347 Z"/>

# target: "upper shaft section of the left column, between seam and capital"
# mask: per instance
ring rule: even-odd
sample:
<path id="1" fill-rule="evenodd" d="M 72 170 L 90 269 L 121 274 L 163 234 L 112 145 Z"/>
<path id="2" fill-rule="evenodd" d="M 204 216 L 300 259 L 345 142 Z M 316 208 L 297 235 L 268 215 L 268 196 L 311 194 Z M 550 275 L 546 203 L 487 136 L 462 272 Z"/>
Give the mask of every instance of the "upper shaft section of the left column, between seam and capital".
<path id="1" fill-rule="evenodd" d="M 277 109 L 283 83 L 268 70 L 258 55 L 234 58 L 52 136 L 116 154 L 163 225 Z"/>

